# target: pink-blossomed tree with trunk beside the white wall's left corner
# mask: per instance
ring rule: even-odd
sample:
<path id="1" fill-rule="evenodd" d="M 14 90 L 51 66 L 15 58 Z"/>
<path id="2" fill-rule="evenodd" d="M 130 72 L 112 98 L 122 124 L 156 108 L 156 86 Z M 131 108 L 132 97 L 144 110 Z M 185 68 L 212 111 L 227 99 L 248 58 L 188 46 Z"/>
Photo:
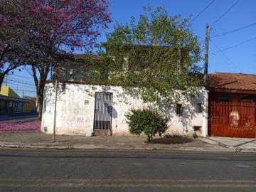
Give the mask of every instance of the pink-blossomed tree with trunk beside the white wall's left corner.
<path id="1" fill-rule="evenodd" d="M 100 28 L 110 22 L 105 0 L 26 0 L 30 41 L 24 61 L 31 65 L 41 119 L 43 90 L 60 55 L 95 46 Z"/>

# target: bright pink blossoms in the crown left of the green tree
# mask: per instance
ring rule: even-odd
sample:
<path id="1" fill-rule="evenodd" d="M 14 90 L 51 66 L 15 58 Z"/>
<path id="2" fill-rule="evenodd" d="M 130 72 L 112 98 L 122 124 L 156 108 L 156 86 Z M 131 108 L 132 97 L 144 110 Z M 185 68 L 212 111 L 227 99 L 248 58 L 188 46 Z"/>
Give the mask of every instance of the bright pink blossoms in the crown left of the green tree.
<path id="1" fill-rule="evenodd" d="M 107 28 L 107 23 L 111 21 L 105 0 L 30 1 L 31 14 L 52 27 L 52 34 L 48 36 L 57 38 L 53 40 L 57 43 L 55 47 L 72 51 L 80 47 L 90 48 L 99 36 L 100 28 Z"/>

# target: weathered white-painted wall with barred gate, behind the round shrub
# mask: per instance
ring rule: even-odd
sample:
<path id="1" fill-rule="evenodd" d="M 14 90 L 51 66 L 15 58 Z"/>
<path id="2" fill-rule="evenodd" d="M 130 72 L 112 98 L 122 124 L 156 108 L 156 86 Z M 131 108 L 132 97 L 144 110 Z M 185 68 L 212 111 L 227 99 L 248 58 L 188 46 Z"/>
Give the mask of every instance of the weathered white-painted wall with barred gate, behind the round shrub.
<path id="1" fill-rule="evenodd" d="M 65 89 L 57 98 L 55 134 L 85 135 L 112 134 L 129 135 L 125 114 L 132 108 L 149 106 L 135 92 L 126 92 L 119 86 L 95 86 L 76 82 L 65 82 Z M 173 105 L 161 105 L 158 109 L 169 117 L 171 134 L 193 134 L 206 137 L 208 92 L 202 87 L 191 101 Z M 53 133 L 55 89 L 46 84 L 43 100 L 41 131 Z"/>

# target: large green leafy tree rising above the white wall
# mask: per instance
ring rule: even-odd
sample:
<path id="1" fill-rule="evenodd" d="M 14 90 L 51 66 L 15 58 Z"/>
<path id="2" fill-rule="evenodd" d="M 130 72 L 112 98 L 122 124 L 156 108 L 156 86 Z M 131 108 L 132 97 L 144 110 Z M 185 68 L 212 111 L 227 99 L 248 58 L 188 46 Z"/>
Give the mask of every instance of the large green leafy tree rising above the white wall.
<path id="1" fill-rule="evenodd" d="M 135 88 L 145 102 L 172 103 L 181 94 L 191 97 L 200 85 L 201 49 L 189 19 L 169 16 L 162 7 L 144 11 L 138 20 L 116 24 L 107 34 L 106 51 L 102 48 L 100 55 L 112 61 L 102 66 L 110 74 L 104 83 Z"/>

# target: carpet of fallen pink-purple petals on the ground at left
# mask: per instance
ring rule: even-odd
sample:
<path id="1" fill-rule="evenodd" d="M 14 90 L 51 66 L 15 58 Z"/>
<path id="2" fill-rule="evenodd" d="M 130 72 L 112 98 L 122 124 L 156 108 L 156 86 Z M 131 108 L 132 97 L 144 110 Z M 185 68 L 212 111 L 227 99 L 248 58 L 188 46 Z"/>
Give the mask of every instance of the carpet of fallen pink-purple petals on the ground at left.
<path id="1" fill-rule="evenodd" d="M 40 130 L 41 121 L 31 122 L 0 122 L 0 132 Z"/>

